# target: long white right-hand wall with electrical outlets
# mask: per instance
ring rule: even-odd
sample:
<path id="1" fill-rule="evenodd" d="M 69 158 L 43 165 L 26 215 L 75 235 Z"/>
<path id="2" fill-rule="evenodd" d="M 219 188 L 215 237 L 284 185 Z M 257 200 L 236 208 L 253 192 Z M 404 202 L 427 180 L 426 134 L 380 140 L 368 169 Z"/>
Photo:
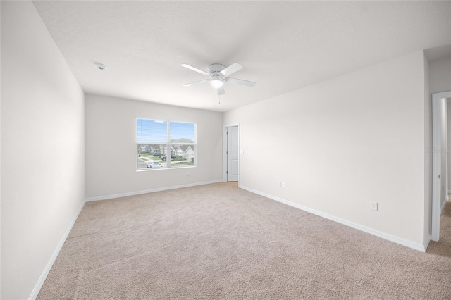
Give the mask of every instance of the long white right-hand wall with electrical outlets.
<path id="1" fill-rule="evenodd" d="M 225 113 L 240 185 L 423 245 L 424 68 L 419 51 Z"/>

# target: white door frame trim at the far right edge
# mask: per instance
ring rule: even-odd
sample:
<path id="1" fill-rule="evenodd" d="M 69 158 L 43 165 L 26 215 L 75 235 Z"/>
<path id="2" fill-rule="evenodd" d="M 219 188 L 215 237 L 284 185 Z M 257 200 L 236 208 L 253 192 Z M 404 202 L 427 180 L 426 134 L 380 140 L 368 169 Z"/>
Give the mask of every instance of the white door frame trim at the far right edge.
<path id="1" fill-rule="evenodd" d="M 431 239 L 438 241 L 440 237 L 440 214 L 441 209 L 441 149 L 442 149 L 442 127 L 440 118 L 441 99 L 451 98 L 451 91 L 432 94 L 432 212 L 431 212 Z M 445 190 L 445 193 L 448 191 Z"/>

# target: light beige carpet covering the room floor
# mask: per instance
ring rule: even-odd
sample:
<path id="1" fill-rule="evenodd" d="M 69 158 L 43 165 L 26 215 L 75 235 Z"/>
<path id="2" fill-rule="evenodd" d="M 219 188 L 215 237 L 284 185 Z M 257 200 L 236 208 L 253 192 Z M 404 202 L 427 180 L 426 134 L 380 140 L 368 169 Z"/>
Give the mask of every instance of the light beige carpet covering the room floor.
<path id="1" fill-rule="evenodd" d="M 85 205 L 38 299 L 451 299 L 426 254 L 218 183 Z"/>

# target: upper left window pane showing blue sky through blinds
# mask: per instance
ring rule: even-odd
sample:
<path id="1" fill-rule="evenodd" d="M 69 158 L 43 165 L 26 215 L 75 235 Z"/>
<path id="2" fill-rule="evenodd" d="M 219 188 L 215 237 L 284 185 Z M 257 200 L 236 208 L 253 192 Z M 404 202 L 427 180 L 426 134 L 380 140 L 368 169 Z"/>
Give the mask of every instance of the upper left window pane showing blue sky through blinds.
<path id="1" fill-rule="evenodd" d="M 136 120 L 137 143 L 166 143 L 167 122 L 154 120 Z"/>

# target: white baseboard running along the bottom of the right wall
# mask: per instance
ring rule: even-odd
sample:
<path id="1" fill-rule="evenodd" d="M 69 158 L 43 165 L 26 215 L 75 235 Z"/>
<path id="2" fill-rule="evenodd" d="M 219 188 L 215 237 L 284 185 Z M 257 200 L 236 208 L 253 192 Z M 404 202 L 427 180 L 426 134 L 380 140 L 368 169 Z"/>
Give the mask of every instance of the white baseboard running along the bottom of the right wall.
<path id="1" fill-rule="evenodd" d="M 328 220 L 333 220 L 333 221 L 335 221 L 337 223 L 340 223 L 340 224 L 343 224 L 343 225 L 347 225 L 347 226 L 352 227 L 354 229 L 357 229 L 357 230 L 369 233 L 370 235 L 376 235 L 376 237 L 381 237 L 383 239 L 387 239 L 390 242 L 395 242 L 397 244 L 402 244 L 403 246 L 407 246 L 409 248 L 412 248 L 412 249 L 415 249 L 415 250 L 419 250 L 419 251 L 422 251 L 422 252 L 426 251 L 427 244 L 426 245 L 417 244 L 417 243 L 408 241 L 407 239 L 402 239 L 400 237 L 395 237 L 394 235 L 389 235 L 388 233 L 381 232 L 381 231 L 378 231 L 378 230 L 374 230 L 374 229 L 372 229 L 370 227 L 359 225 L 357 223 L 353 223 L 353 222 L 350 222 L 348 220 L 344 220 L 342 218 L 338 218 L 338 217 L 335 217 L 333 215 L 329 215 L 328 213 L 323 213 L 321 211 L 316 211 L 315 209 L 308 208 L 307 206 L 296 204 L 294 202 L 291 202 L 291 201 L 288 201 L 288 200 L 285 200 L 285 199 L 281 199 L 279 197 L 276 197 L 276 196 L 273 196 L 273 195 L 270 195 L 270 194 L 266 194 L 264 192 L 259 192 L 259 191 L 255 190 L 255 189 L 251 189 L 249 187 L 244 187 L 242 185 L 239 185 L 239 187 L 242 188 L 242 189 L 245 189 L 245 190 L 247 190 L 249 192 L 252 192 L 254 194 L 259 194 L 261 196 L 265 196 L 266 198 L 276 200 L 276 201 L 281 202 L 283 204 L 288 204 L 289 206 L 292 206 L 292 207 L 295 207 L 295 208 L 299 208 L 302 211 L 307 211 L 308 213 L 313 213 L 314 215 L 319 215 L 320 217 L 326 218 Z"/>

